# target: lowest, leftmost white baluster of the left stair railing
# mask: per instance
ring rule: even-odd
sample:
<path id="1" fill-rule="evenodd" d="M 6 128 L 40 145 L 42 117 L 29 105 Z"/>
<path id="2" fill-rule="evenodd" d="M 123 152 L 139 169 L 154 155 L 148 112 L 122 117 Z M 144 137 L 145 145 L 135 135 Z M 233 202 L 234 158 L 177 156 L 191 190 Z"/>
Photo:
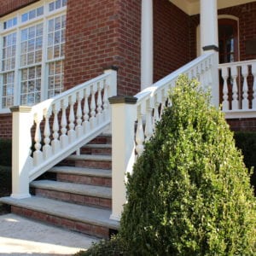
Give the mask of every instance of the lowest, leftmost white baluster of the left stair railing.
<path id="1" fill-rule="evenodd" d="M 43 160 L 43 154 L 42 151 L 40 150 L 42 145 L 41 145 L 41 131 L 40 131 L 40 124 L 41 124 L 41 114 L 37 113 L 35 114 L 35 123 L 36 123 L 36 132 L 35 132 L 35 151 L 33 153 L 33 159 L 34 159 L 34 166 L 38 166 L 42 160 Z"/>

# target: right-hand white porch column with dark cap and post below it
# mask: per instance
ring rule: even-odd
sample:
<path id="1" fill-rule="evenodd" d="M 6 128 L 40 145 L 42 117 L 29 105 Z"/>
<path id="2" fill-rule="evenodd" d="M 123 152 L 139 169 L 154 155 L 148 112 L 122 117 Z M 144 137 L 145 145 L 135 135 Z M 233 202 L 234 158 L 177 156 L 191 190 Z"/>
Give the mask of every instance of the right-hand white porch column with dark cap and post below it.
<path id="1" fill-rule="evenodd" d="M 218 9 L 217 0 L 200 1 L 201 47 L 214 53 L 212 63 L 212 104 L 218 107 Z"/>

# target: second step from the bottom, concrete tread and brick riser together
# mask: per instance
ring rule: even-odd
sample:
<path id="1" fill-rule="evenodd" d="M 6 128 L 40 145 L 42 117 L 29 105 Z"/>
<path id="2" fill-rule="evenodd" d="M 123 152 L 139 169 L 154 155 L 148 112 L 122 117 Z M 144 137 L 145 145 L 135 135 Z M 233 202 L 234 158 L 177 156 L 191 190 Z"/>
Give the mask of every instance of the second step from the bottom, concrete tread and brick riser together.
<path id="1" fill-rule="evenodd" d="M 30 184 L 34 195 L 92 207 L 111 208 L 111 189 L 52 180 L 38 180 Z"/>

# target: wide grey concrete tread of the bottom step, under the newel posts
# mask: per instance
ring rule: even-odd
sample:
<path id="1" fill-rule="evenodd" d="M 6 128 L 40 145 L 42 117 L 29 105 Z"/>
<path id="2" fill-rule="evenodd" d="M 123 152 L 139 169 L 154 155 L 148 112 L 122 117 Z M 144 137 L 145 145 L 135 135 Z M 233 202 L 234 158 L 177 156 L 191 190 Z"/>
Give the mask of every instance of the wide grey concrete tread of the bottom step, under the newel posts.
<path id="1" fill-rule="evenodd" d="M 111 211 L 107 209 L 75 205 L 39 196 L 19 200 L 11 197 L 2 197 L 0 198 L 0 202 L 15 207 L 24 207 L 37 212 L 44 212 L 59 218 L 67 218 L 84 224 L 94 224 L 113 230 L 119 229 L 119 222 L 109 219 Z"/>

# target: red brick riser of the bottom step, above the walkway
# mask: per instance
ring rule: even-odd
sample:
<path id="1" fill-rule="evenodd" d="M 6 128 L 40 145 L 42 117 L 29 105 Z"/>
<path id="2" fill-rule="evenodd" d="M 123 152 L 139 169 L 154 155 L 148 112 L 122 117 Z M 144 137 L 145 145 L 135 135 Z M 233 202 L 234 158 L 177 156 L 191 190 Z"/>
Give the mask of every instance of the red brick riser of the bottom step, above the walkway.
<path id="1" fill-rule="evenodd" d="M 33 218 L 48 224 L 54 224 L 55 226 L 63 227 L 68 230 L 79 231 L 80 233 L 86 235 L 96 236 L 105 239 L 109 238 L 109 229 L 106 227 L 97 226 L 94 224 L 81 223 L 79 221 L 70 220 L 67 218 L 60 218 L 54 215 L 50 215 L 48 213 L 37 212 L 22 207 L 12 206 L 11 212 L 24 216 L 26 218 Z"/>

